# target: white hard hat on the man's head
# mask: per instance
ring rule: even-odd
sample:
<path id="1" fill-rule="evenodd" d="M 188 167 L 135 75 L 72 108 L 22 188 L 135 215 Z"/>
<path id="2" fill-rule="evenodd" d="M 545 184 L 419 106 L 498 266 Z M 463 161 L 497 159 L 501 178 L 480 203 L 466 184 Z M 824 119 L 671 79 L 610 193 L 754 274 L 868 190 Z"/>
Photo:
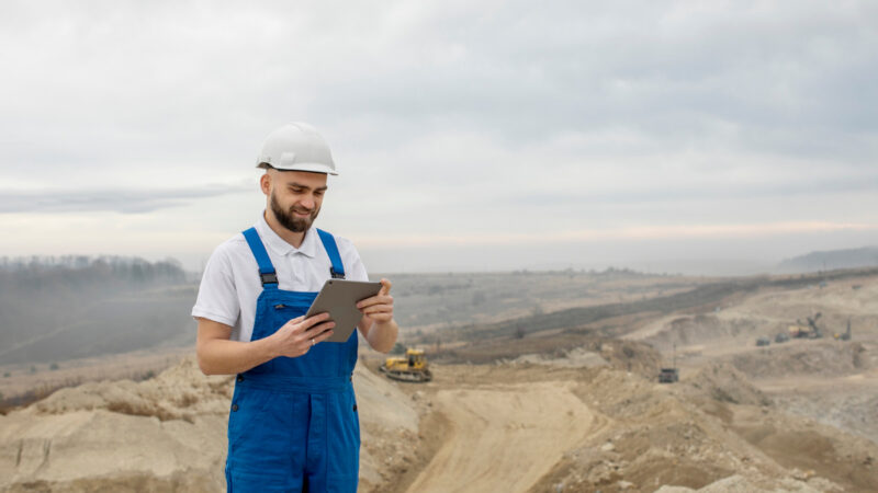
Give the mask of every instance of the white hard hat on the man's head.
<path id="1" fill-rule="evenodd" d="M 269 134 L 257 168 L 338 174 L 326 140 L 308 124 L 294 122 Z"/>

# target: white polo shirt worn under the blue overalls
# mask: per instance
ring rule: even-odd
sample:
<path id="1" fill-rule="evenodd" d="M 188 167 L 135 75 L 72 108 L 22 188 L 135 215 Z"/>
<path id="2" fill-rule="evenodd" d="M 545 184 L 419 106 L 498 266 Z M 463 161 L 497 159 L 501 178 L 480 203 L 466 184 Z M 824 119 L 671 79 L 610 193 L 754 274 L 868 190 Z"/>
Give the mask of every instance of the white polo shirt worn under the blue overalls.
<path id="1" fill-rule="evenodd" d="M 313 227 L 305 232 L 299 249 L 279 237 L 266 222 L 264 215 L 259 217 L 256 231 L 278 273 L 279 289 L 319 291 L 324 282 L 331 277 L 329 267 L 333 263 Z M 369 280 L 353 244 L 345 238 L 335 238 L 345 266 L 345 278 Z M 244 234 L 236 234 L 217 246 L 207 261 L 192 317 L 230 325 L 232 341 L 248 342 L 254 333 L 256 300 L 261 293 L 256 257 Z"/>

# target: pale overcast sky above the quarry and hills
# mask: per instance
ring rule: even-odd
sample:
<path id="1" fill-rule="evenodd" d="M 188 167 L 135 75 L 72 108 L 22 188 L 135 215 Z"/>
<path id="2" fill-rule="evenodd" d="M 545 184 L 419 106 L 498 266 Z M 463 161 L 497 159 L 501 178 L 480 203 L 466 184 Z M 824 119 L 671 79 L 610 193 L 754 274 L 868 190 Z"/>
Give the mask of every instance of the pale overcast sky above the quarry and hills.
<path id="1" fill-rule="evenodd" d="M 198 270 L 293 121 L 373 272 L 878 244 L 876 54 L 871 1 L 7 1 L 0 255 Z"/>

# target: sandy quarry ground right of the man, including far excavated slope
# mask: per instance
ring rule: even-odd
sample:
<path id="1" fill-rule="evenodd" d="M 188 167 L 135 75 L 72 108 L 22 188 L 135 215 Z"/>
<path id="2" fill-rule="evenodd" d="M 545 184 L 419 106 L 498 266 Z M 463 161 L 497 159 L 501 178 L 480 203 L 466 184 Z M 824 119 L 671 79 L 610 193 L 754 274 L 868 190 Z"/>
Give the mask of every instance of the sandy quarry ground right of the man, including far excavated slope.
<path id="1" fill-rule="evenodd" d="M 761 290 L 641 325 L 626 339 L 676 358 L 683 380 L 671 386 L 594 344 L 436 366 L 434 382 L 399 387 L 430 403 L 421 429 L 434 429 L 420 436 L 440 443 L 384 488 L 878 491 L 876 295 L 874 277 Z M 828 337 L 755 346 L 818 311 Z M 833 340 L 847 319 L 854 340 Z"/>

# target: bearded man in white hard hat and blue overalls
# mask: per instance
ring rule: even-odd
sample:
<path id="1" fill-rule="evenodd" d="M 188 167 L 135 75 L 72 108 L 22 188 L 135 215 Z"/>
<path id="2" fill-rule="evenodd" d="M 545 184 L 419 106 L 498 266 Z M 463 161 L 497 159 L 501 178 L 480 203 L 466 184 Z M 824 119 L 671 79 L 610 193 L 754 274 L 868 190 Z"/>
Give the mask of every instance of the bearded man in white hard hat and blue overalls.
<path id="1" fill-rule="evenodd" d="M 214 251 L 192 316 L 199 366 L 237 374 L 228 420 L 229 492 L 356 491 L 360 426 L 351 386 L 358 335 L 324 342 L 326 313 L 304 318 L 326 279 L 367 280 L 353 245 L 312 226 L 337 174 L 306 124 L 266 139 L 257 167 L 266 210 Z M 359 332 L 386 353 L 396 342 L 391 283 L 358 303 Z"/>

